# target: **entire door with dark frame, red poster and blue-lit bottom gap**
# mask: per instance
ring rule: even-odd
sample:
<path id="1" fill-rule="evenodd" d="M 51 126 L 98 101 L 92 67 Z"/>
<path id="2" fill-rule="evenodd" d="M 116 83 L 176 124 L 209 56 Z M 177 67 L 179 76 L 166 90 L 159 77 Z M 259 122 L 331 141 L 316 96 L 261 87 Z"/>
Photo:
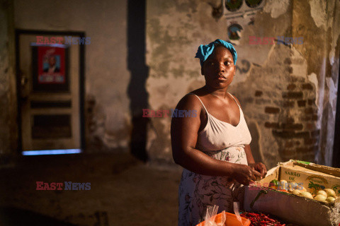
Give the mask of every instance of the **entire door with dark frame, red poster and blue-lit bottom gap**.
<path id="1" fill-rule="evenodd" d="M 78 42 L 74 42 L 78 40 Z M 84 32 L 16 30 L 18 152 L 82 153 Z"/>

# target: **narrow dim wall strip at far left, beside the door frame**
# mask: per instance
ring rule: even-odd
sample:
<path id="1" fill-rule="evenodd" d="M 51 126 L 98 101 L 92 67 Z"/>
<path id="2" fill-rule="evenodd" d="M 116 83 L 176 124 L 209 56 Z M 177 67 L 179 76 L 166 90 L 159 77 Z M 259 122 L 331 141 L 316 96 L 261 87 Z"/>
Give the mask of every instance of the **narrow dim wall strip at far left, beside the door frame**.
<path id="1" fill-rule="evenodd" d="M 0 166 L 16 153 L 16 80 L 13 3 L 0 1 Z"/>

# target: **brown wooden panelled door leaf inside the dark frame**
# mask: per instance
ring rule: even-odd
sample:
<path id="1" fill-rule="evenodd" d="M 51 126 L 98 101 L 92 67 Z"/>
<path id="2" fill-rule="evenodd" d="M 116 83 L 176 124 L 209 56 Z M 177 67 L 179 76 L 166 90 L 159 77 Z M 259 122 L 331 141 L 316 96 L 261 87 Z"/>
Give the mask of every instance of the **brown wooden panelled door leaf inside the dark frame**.
<path id="1" fill-rule="evenodd" d="M 54 45 L 43 52 L 35 41 L 36 35 L 23 34 L 18 43 L 22 150 L 80 149 L 79 46 Z"/>

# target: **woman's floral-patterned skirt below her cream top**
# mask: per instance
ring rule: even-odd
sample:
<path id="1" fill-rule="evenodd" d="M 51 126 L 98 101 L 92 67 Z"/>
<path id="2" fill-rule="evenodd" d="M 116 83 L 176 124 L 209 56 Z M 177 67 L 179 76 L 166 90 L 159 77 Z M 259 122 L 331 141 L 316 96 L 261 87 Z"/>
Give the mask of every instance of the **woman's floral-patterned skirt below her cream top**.
<path id="1" fill-rule="evenodd" d="M 243 147 L 229 147 L 205 154 L 217 160 L 247 165 Z M 202 222 L 208 206 L 217 205 L 218 213 L 233 213 L 233 202 L 243 202 L 244 187 L 228 182 L 227 177 L 212 177 L 183 169 L 179 184 L 179 226 L 194 226 Z"/>

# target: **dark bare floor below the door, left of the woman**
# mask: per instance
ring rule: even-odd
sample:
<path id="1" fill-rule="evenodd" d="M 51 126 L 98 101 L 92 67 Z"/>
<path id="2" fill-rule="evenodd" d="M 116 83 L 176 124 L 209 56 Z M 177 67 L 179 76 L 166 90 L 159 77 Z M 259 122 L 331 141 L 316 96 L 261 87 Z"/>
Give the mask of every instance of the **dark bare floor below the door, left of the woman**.
<path id="1" fill-rule="evenodd" d="M 176 225 L 180 167 L 129 154 L 21 157 L 0 169 L 0 225 Z M 37 191 L 36 182 L 90 182 L 89 191 Z"/>

